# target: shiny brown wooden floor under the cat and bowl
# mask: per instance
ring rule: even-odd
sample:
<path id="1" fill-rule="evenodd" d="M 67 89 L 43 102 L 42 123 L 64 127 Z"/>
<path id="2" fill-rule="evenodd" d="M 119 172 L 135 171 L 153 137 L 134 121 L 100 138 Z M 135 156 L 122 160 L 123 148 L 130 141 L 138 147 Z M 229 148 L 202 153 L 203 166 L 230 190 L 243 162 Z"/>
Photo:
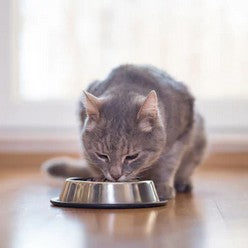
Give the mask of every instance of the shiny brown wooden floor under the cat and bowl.
<path id="1" fill-rule="evenodd" d="M 194 182 L 165 207 L 63 209 L 36 169 L 1 169 L 0 247 L 248 247 L 248 167 L 199 170 Z"/>

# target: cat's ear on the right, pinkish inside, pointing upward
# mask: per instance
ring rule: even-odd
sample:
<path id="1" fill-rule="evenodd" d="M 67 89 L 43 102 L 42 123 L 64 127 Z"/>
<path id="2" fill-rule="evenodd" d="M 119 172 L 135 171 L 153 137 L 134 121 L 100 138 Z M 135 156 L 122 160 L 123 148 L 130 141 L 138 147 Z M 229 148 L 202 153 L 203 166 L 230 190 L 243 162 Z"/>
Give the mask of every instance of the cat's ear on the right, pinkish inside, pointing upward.
<path id="1" fill-rule="evenodd" d="M 142 131 L 150 132 L 153 128 L 153 123 L 158 117 L 158 97 L 155 90 L 152 90 L 147 95 L 142 103 L 137 119 Z"/>

